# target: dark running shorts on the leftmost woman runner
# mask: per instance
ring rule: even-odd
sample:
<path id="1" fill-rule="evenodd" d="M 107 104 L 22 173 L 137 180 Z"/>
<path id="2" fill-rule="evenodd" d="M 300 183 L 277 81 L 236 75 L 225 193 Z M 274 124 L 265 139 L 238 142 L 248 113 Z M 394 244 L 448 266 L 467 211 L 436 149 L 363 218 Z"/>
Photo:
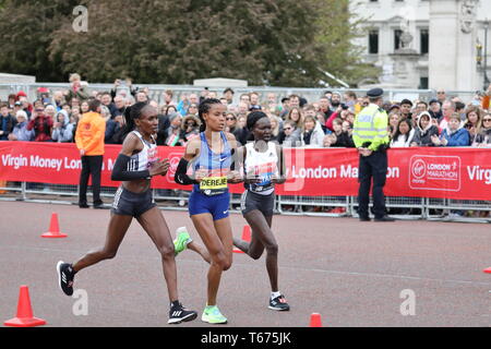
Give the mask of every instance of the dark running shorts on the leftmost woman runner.
<path id="1" fill-rule="evenodd" d="M 121 185 L 116 192 L 111 212 L 116 215 L 140 217 L 155 206 L 152 189 L 143 193 L 133 193 Z"/>

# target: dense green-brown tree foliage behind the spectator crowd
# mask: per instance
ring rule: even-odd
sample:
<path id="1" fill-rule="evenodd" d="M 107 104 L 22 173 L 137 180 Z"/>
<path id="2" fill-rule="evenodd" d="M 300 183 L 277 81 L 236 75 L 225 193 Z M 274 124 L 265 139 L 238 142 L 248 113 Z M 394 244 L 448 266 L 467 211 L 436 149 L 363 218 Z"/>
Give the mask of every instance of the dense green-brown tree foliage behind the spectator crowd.
<path id="1" fill-rule="evenodd" d="M 5 0 L 0 71 L 38 81 L 79 72 L 105 83 L 232 77 L 306 87 L 327 81 L 328 71 L 356 83 L 367 71 L 349 40 L 356 28 L 339 5 L 347 1 Z M 79 4 L 88 9 L 86 33 L 72 26 Z"/>

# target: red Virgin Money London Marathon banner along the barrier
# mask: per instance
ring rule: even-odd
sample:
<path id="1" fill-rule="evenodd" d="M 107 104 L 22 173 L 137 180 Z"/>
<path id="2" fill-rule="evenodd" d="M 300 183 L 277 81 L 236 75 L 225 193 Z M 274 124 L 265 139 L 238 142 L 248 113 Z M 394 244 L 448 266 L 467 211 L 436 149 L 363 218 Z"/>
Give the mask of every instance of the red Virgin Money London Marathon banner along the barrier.
<path id="1" fill-rule="evenodd" d="M 110 173 L 121 145 L 106 145 L 101 184 L 118 186 Z M 168 158 L 166 176 L 154 177 L 153 188 L 187 189 L 173 181 L 183 147 L 158 147 Z M 0 142 L 0 179 L 7 181 L 79 184 L 82 168 L 73 143 Z M 288 180 L 279 195 L 356 196 L 358 153 L 348 148 L 285 149 Z M 241 193 L 242 184 L 230 185 Z M 387 196 L 491 200 L 491 149 L 410 147 L 388 151 Z"/>

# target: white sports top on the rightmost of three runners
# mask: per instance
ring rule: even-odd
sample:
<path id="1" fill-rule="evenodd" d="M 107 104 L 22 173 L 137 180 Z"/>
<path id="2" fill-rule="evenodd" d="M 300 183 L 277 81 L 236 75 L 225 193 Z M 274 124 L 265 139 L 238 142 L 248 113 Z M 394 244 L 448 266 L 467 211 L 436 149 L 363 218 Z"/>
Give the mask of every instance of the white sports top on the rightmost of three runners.
<path id="1" fill-rule="evenodd" d="M 255 176 L 262 179 L 258 184 L 244 184 L 246 189 L 261 195 L 270 195 L 275 190 L 271 182 L 271 177 L 278 177 L 278 155 L 276 154 L 276 143 L 268 142 L 267 151 L 256 152 L 254 142 L 246 144 L 246 176 Z"/>

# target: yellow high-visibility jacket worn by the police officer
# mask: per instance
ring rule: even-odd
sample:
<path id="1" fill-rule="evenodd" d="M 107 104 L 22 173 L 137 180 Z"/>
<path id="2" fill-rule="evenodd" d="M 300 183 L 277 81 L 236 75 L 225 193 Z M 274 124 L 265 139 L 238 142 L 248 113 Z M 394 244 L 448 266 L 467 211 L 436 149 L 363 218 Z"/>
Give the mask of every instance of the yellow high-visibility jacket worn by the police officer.
<path id="1" fill-rule="evenodd" d="M 355 118 L 352 141 L 357 148 L 369 142 L 370 151 L 378 151 L 382 144 L 388 144 L 388 116 L 378 105 L 370 104 Z"/>

